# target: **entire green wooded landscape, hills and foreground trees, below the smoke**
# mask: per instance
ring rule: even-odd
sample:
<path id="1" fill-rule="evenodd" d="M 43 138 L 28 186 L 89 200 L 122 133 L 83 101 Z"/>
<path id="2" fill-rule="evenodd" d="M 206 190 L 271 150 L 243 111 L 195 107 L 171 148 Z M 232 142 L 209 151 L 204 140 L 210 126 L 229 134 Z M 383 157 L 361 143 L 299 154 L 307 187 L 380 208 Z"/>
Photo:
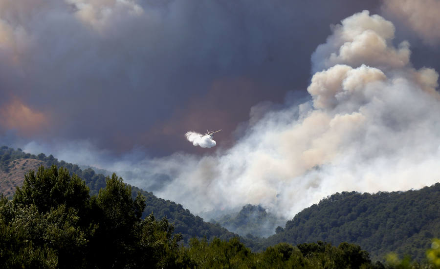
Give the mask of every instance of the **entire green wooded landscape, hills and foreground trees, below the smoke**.
<path id="1" fill-rule="evenodd" d="M 48 167 L 26 173 L 14 196 L 1 199 L 1 268 L 436 268 L 440 262 L 438 241 L 432 243 L 440 236 L 439 183 L 408 192 L 336 193 L 268 238 L 240 237 L 115 174 L 20 149 L 1 147 L 0 154 L 2 171 L 20 158 Z M 246 205 L 221 225 L 252 231 L 267 219 L 263 208 Z"/>

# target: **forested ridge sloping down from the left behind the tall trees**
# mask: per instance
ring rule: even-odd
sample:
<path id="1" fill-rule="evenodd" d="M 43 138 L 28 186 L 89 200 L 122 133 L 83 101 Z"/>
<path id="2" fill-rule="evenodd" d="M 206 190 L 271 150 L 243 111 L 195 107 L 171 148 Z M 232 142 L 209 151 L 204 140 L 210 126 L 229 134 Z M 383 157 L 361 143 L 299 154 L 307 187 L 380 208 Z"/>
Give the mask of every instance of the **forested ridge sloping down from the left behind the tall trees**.
<path id="1" fill-rule="evenodd" d="M 51 165 L 64 167 L 69 171 L 70 175 L 76 174 L 85 181 L 89 188 L 90 195 L 97 195 L 100 189 L 106 187 L 106 177 L 101 173 L 95 173 L 91 168 L 81 170 L 76 164 L 58 161 L 52 155 L 46 156 L 43 153 L 34 155 L 24 153 L 20 149 L 14 150 L 6 146 L 0 148 L 0 169 L 2 171 L 10 173 L 9 170 L 15 165 L 14 161 L 18 159 L 40 160 L 45 167 L 50 167 Z M 7 175 L 8 174 L 6 174 L 6 176 Z M 5 184 L 2 182 L 5 182 L 6 180 L 7 178 L 3 181 L 0 179 L 0 186 Z M 22 180 L 20 183 L 21 184 L 18 186 L 22 186 Z M 152 212 L 156 219 L 166 217 L 170 223 L 174 223 L 175 232 L 182 234 L 183 242 L 185 243 L 188 243 L 189 239 L 194 236 L 200 238 L 206 237 L 208 239 L 212 239 L 214 236 L 219 237 L 220 239 L 229 239 L 236 236 L 236 234 L 227 231 L 219 224 L 204 222 L 202 218 L 193 215 L 189 210 L 185 210 L 180 204 L 158 198 L 154 196 L 152 192 L 146 192 L 134 186 L 131 186 L 131 188 L 133 197 L 136 196 L 137 192 L 140 192 L 145 196 L 146 207 L 143 211 L 142 217 L 145 217 Z M 250 242 L 249 245 L 252 246 L 252 242 Z"/>

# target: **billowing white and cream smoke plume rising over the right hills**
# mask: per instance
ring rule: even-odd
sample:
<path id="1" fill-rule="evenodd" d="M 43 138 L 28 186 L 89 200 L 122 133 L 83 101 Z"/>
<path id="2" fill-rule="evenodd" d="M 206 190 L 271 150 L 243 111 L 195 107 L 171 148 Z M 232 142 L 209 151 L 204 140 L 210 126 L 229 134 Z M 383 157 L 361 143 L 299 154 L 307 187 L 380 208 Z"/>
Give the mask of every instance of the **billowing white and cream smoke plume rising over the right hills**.
<path id="1" fill-rule="evenodd" d="M 312 56 L 311 100 L 251 124 L 231 149 L 146 160 L 148 187 L 194 212 L 261 204 L 286 217 L 334 192 L 420 188 L 440 178 L 438 73 L 416 70 L 393 23 L 344 19 Z"/>

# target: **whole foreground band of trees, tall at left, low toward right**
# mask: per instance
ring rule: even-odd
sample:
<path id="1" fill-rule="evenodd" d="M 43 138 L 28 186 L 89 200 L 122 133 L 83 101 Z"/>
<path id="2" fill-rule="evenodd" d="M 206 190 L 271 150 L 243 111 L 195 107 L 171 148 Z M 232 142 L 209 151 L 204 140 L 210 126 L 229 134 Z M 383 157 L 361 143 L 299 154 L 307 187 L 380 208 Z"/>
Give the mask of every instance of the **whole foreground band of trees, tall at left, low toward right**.
<path id="1" fill-rule="evenodd" d="M 0 199 L 1 268 L 383 268 L 359 246 L 281 243 L 254 253 L 234 237 L 191 240 L 166 219 L 141 219 L 145 198 L 113 174 L 90 196 L 85 182 L 56 166 L 25 175 Z"/>

